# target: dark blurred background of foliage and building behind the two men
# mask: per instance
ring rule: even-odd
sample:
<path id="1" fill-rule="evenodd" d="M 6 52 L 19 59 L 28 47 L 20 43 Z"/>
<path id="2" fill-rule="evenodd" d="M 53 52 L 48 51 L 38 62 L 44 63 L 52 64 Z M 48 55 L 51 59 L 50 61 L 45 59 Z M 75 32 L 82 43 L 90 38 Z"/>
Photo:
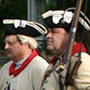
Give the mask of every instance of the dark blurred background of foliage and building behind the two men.
<path id="1" fill-rule="evenodd" d="M 83 0 L 82 11 L 84 12 L 85 7 L 87 7 L 86 15 L 90 19 L 90 0 L 87 1 L 88 4 L 85 6 L 86 0 Z M 0 65 L 9 61 L 4 51 L 3 19 L 26 19 L 45 25 L 41 17 L 45 11 L 75 7 L 76 2 L 77 0 L 0 0 Z M 45 36 L 35 39 L 43 51 L 44 58 L 49 61 L 52 54 L 46 49 Z M 89 40 L 87 44 L 90 46 Z"/>

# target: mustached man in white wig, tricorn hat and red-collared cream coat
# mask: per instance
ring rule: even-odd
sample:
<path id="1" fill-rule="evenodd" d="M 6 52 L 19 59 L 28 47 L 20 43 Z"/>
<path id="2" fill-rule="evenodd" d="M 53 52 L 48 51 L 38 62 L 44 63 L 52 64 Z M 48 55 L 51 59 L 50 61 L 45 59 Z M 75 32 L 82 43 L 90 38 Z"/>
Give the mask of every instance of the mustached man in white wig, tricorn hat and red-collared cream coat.
<path id="1" fill-rule="evenodd" d="M 40 90 L 47 62 L 37 52 L 34 37 L 45 35 L 46 28 L 36 22 L 3 20 L 5 50 L 12 60 L 0 71 L 0 90 Z"/>

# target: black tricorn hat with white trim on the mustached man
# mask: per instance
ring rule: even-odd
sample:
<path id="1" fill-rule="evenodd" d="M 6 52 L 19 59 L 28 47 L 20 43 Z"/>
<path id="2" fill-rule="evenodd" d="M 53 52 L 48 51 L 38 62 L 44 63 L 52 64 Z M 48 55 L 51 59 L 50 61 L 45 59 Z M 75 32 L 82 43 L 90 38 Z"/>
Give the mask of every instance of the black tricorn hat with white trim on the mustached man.
<path id="1" fill-rule="evenodd" d="M 3 20 L 5 35 L 22 34 L 31 37 L 38 37 L 47 34 L 47 29 L 40 23 L 20 20 L 5 19 Z"/>

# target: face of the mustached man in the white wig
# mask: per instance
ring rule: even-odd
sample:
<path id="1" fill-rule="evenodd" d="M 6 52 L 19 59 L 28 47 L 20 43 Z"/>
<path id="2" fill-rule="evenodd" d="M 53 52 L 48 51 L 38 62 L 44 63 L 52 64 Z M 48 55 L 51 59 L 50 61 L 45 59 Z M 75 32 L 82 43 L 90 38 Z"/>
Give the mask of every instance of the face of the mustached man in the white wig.
<path id="1" fill-rule="evenodd" d="M 5 50 L 7 56 L 17 62 L 23 55 L 23 45 L 18 41 L 16 35 L 8 35 L 5 38 Z"/>

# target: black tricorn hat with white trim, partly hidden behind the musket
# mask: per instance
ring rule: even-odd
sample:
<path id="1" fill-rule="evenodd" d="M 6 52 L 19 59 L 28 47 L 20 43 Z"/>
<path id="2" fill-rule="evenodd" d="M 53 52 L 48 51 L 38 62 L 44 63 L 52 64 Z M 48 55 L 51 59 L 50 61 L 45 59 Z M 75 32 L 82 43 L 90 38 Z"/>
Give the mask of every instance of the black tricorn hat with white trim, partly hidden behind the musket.
<path id="1" fill-rule="evenodd" d="M 74 12 L 74 7 L 68 8 L 66 10 L 49 10 L 42 14 L 42 18 L 49 28 L 62 27 L 69 32 Z M 90 20 L 85 16 L 85 14 L 82 11 L 80 12 L 78 21 L 78 30 L 82 31 L 83 27 L 85 30 L 90 30 Z"/>

